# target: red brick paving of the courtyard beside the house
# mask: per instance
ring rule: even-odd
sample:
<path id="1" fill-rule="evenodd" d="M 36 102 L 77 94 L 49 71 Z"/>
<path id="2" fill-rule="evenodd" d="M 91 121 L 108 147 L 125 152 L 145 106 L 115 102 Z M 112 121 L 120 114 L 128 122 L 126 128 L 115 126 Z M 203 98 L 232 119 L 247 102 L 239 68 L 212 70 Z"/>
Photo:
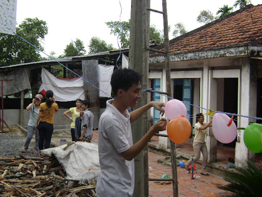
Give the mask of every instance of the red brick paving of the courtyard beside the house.
<path id="1" fill-rule="evenodd" d="M 98 143 L 98 131 L 94 131 L 93 143 Z M 165 156 L 148 152 L 148 173 L 149 178 L 160 178 L 163 174 L 171 175 L 172 170 L 169 166 L 157 163 L 158 160 L 165 159 Z M 179 196 L 219 196 L 223 190 L 216 188 L 218 184 L 227 184 L 220 176 L 210 173 L 210 176 L 201 176 L 191 180 L 191 174 L 187 174 L 183 168 L 177 168 L 178 173 L 178 192 Z M 149 197 L 165 197 L 172 195 L 172 184 L 159 185 L 149 182 Z"/>

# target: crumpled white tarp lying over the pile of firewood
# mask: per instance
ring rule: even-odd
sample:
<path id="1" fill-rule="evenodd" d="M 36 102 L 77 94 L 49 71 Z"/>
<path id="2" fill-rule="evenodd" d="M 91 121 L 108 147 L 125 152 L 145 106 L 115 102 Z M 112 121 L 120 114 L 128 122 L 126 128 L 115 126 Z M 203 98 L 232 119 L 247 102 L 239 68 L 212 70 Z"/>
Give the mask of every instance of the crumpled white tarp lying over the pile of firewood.
<path id="1" fill-rule="evenodd" d="M 100 173 L 98 146 L 86 142 L 76 142 L 67 149 L 66 144 L 41 150 L 43 155 L 52 154 L 67 172 L 68 179 L 83 181 L 97 180 Z"/>

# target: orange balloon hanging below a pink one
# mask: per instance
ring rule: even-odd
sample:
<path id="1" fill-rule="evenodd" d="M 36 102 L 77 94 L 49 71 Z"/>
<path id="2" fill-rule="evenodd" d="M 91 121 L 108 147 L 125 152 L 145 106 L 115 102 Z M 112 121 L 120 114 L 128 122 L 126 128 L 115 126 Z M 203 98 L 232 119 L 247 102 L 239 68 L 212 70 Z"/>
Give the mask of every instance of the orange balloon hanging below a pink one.
<path id="1" fill-rule="evenodd" d="M 174 143 L 186 142 L 191 134 L 191 124 L 185 117 L 175 117 L 167 125 L 167 134 Z"/>

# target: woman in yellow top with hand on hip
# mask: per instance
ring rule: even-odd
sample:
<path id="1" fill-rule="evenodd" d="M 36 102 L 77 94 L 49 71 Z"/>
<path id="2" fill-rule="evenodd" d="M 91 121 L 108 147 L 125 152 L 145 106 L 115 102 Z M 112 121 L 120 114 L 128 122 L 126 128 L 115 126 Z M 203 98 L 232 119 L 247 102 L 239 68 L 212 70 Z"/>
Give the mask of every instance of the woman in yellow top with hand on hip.
<path id="1" fill-rule="evenodd" d="M 69 110 L 63 112 L 63 114 L 68 117 L 68 119 L 71 120 L 71 136 L 72 136 L 72 141 L 76 141 L 75 137 L 75 120 L 76 117 L 80 115 L 80 107 L 82 105 L 81 99 L 76 100 L 76 107 L 71 107 Z M 72 117 L 68 115 L 68 113 L 72 113 Z"/>

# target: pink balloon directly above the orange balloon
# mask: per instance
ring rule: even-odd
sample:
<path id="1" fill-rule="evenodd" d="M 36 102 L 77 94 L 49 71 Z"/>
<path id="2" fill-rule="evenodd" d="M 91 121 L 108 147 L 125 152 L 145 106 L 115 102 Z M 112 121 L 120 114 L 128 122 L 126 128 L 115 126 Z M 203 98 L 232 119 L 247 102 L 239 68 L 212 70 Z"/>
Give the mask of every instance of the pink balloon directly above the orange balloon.
<path id="1" fill-rule="evenodd" d="M 184 103 L 177 99 L 172 99 L 167 102 L 165 106 L 165 114 L 169 120 L 174 119 L 174 117 L 184 116 L 186 117 L 187 109 Z"/>

